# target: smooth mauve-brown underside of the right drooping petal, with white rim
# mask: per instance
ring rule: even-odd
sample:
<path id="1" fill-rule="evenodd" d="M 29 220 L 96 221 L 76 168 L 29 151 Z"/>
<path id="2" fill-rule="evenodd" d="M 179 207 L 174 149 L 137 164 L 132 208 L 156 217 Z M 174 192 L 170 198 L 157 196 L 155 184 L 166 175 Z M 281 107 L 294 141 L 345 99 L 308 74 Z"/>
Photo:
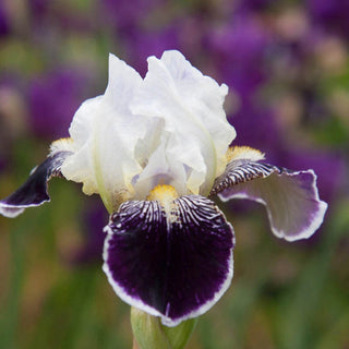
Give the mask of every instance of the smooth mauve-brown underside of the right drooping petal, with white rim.
<path id="1" fill-rule="evenodd" d="M 288 241 L 310 238 L 322 225 L 327 209 L 327 204 L 318 198 L 313 170 L 276 170 L 268 177 L 228 188 L 218 195 L 222 201 L 249 198 L 264 204 L 272 231 Z"/>

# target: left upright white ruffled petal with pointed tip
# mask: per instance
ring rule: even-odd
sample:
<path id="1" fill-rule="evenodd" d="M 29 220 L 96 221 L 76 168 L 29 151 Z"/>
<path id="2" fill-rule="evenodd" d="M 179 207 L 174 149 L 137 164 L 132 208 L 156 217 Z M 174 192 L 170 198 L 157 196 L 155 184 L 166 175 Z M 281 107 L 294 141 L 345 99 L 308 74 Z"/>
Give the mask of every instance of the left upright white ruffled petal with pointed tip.
<path id="1" fill-rule="evenodd" d="M 83 182 L 86 194 L 100 194 L 108 209 L 133 195 L 132 179 L 142 170 L 137 143 L 151 125 L 129 108 L 141 83 L 135 70 L 110 55 L 105 95 L 86 100 L 69 130 L 74 155 L 62 166 L 62 173 Z"/>

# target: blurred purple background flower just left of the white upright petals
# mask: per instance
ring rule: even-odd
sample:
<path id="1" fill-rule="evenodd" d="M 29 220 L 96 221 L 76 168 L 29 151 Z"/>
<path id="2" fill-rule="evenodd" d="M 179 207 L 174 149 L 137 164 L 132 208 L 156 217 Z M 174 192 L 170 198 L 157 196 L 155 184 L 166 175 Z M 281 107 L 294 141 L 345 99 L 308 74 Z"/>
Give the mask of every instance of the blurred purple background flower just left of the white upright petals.
<path id="1" fill-rule="evenodd" d="M 71 116 L 86 98 L 86 73 L 62 69 L 34 80 L 28 89 L 28 108 L 33 132 L 43 137 L 63 137 Z"/>

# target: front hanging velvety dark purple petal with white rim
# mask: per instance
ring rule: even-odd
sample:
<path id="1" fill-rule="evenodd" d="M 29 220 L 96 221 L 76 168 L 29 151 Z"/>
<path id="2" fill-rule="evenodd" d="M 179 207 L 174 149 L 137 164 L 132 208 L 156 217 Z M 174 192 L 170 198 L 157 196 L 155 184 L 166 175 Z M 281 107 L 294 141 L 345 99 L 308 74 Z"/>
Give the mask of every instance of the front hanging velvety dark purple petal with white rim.
<path id="1" fill-rule="evenodd" d="M 232 227 L 206 197 L 123 203 L 105 228 L 104 270 L 127 303 L 167 326 L 206 312 L 232 278 Z"/>

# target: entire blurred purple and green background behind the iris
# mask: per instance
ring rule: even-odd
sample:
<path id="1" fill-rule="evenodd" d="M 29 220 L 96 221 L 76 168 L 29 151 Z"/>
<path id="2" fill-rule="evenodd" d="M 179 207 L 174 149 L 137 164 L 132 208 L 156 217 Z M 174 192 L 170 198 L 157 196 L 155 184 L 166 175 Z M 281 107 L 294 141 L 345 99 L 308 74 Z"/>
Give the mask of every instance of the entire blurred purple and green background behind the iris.
<path id="1" fill-rule="evenodd" d="M 329 203 L 317 233 L 294 243 L 272 236 L 264 207 L 220 206 L 234 278 L 188 348 L 349 348 L 348 40 L 348 0 L 1 0 L 0 196 L 104 93 L 108 52 L 144 75 L 146 57 L 179 49 L 229 85 L 236 144 L 313 168 Z M 99 198 L 63 180 L 50 195 L 0 217 L 0 348 L 131 348 L 129 306 L 101 272 Z"/>

